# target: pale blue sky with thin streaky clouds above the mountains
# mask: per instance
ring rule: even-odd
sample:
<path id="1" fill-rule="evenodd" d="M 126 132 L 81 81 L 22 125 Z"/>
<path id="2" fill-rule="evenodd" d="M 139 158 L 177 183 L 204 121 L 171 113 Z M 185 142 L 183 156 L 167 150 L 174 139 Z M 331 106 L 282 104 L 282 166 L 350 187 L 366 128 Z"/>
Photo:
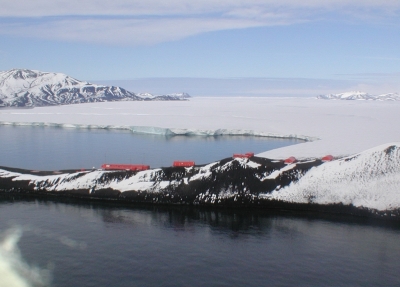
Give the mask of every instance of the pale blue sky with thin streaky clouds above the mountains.
<path id="1" fill-rule="evenodd" d="M 0 0 L 0 70 L 134 92 L 400 92 L 399 0 Z"/>

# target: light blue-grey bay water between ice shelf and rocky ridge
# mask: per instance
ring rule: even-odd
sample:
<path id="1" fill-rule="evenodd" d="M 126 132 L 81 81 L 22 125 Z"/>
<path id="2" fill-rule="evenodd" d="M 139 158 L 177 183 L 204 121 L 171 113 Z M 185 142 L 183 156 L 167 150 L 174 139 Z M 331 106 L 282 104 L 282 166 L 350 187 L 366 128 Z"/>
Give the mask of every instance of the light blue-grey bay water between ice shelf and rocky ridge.
<path id="1" fill-rule="evenodd" d="M 130 131 L 0 126 L 0 166 L 57 170 L 103 163 L 171 166 L 174 160 L 206 164 L 233 153 L 260 153 L 298 140 L 248 136 L 160 136 Z M 290 155 L 288 155 L 290 156 Z"/>

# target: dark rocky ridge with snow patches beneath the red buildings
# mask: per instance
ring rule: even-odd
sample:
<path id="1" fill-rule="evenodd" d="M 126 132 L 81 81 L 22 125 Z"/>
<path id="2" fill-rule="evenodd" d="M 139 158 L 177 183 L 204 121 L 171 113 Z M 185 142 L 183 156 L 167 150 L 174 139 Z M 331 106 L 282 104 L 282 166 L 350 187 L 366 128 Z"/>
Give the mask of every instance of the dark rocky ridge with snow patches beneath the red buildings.
<path id="1" fill-rule="evenodd" d="M 246 206 L 269 202 L 343 206 L 371 213 L 400 211 L 400 143 L 322 162 L 285 165 L 253 157 L 227 158 L 205 166 L 159 168 L 137 173 L 78 171 L 36 175 L 0 169 L 2 189 L 80 192 L 82 196 L 140 202 Z M 24 182 L 24 183 L 23 183 Z"/>

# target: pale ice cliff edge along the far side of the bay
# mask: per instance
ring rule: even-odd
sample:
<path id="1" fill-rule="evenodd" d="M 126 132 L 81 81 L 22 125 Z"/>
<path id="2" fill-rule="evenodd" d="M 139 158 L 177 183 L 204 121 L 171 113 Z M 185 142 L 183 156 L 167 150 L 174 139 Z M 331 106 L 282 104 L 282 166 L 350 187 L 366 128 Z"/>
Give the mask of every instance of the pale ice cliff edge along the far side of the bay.
<path id="1" fill-rule="evenodd" d="M 83 124 L 58 124 L 58 123 L 41 123 L 41 122 L 1 122 L 0 125 L 11 126 L 33 126 L 33 127 L 63 127 L 77 129 L 116 129 L 130 130 L 134 134 L 152 134 L 165 136 L 257 136 L 282 139 L 299 139 L 304 141 L 315 141 L 319 138 L 296 134 L 276 134 L 257 132 L 253 130 L 236 130 L 236 129 L 216 129 L 216 130 L 200 130 L 200 129 L 174 129 L 146 126 L 113 126 L 113 125 L 83 125 Z"/>

